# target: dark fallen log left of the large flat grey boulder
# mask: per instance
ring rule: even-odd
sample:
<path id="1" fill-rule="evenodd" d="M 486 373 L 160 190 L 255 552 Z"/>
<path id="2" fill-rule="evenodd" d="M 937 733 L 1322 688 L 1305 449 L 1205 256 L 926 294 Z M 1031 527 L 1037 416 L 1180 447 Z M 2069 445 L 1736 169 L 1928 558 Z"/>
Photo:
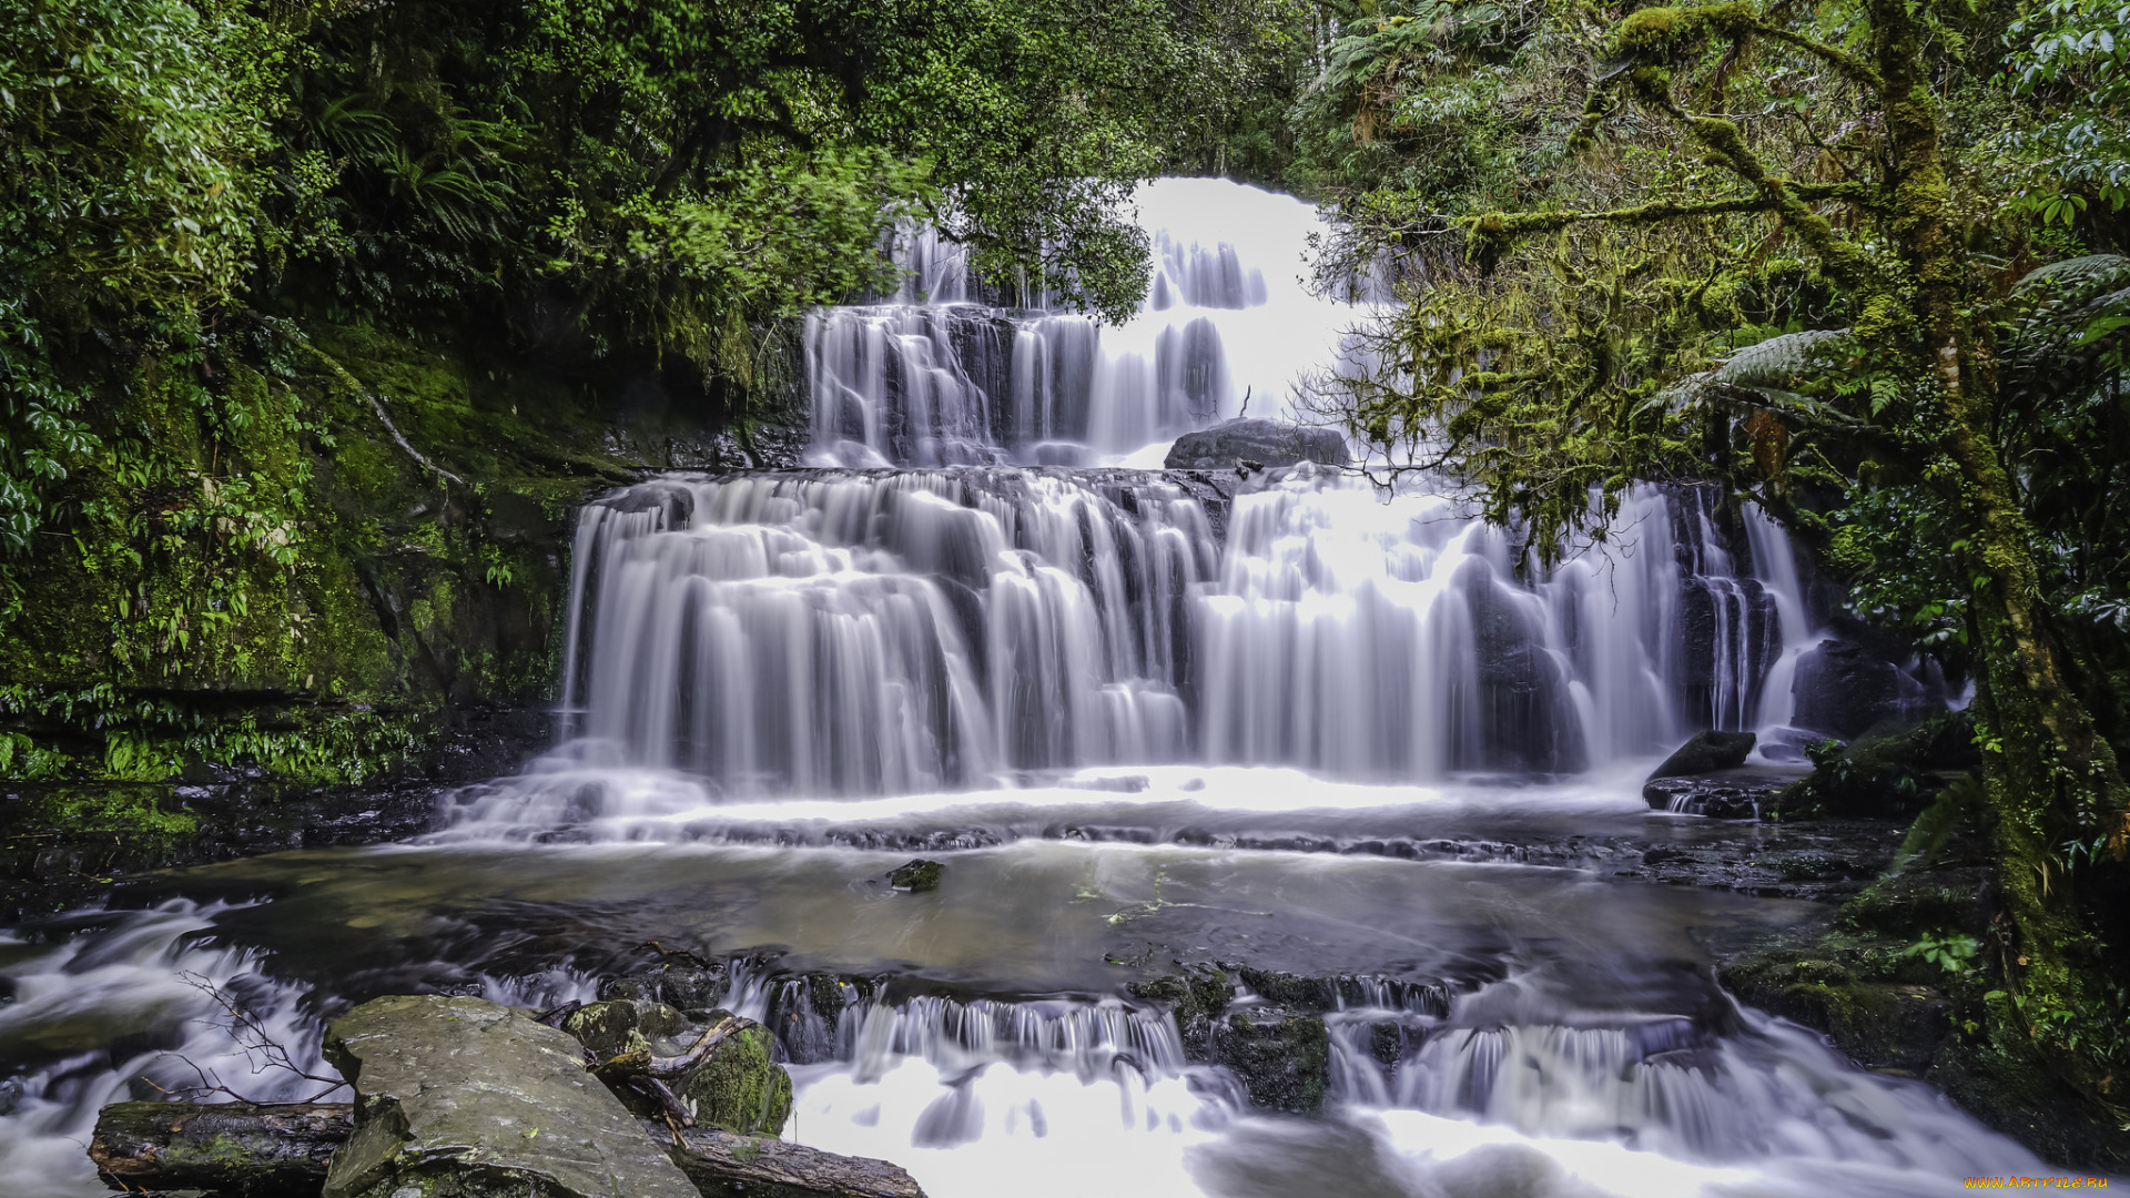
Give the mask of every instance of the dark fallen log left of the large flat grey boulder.
<path id="1" fill-rule="evenodd" d="M 317 1194 L 332 1149 L 356 1130 L 349 1102 L 113 1102 L 89 1160 L 113 1189 Z"/>

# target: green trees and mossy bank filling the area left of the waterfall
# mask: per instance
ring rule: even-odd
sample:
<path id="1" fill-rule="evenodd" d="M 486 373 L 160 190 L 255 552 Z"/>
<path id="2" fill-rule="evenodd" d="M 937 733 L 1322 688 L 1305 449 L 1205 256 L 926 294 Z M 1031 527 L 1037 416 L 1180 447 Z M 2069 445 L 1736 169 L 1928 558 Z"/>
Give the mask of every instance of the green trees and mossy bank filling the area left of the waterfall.
<path id="1" fill-rule="evenodd" d="M 624 388 L 746 443 L 792 318 L 895 284 L 912 220 L 1123 315 L 1123 200 L 1233 107 L 1265 11 L 11 6 L 0 774 L 356 780 L 413 712 L 537 695 L 522 509 L 656 460 Z"/>

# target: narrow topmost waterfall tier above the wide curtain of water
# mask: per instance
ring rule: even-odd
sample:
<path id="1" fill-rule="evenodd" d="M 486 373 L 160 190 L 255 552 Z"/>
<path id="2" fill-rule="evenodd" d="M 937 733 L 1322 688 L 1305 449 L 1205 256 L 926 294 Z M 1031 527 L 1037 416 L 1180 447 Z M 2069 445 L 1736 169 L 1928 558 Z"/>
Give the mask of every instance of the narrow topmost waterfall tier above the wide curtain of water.
<path id="1" fill-rule="evenodd" d="M 1140 190 L 1152 247 L 1140 313 L 1103 328 L 997 294 L 958 247 L 905 230 L 892 301 L 807 318 L 816 465 L 1161 465 L 1216 420 L 1306 418 L 1357 309 L 1316 294 L 1316 209 L 1223 179 Z"/>

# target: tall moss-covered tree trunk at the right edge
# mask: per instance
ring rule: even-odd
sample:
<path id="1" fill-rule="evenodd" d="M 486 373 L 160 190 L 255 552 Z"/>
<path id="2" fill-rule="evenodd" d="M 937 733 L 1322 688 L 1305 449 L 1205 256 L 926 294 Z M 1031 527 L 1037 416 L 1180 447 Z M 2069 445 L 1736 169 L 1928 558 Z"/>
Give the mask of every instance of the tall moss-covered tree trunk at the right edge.
<path id="1" fill-rule="evenodd" d="M 1996 369 L 1987 324 L 1966 313 L 1966 254 L 1953 230 L 1938 151 L 1938 107 L 1908 0 L 1870 0 L 1872 55 L 1885 83 L 1898 245 L 1917 298 L 1917 341 L 1936 371 L 1938 446 L 1955 471 L 1938 480 L 1966 514 L 1962 565 L 1983 774 L 1998 816 L 2000 887 L 2017 934 L 2004 951 L 2019 1025 L 2064 1081 L 2109 1102 L 2107 1064 L 2070 1047 L 2077 1021 L 2119 1019 L 2094 978 L 2100 944 L 2087 932 L 2055 846 L 2107 833 L 2124 851 L 2130 791 L 2115 750 L 2066 684 L 2049 635 L 2032 531 L 1994 439 Z"/>

